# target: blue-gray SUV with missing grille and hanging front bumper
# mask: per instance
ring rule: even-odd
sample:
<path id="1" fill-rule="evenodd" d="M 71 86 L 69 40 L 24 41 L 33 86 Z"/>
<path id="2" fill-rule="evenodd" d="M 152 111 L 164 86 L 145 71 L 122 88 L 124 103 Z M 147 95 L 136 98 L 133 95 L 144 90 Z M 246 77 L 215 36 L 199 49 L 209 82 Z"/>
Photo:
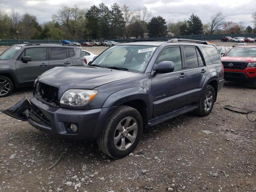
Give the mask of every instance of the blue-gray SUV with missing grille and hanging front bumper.
<path id="1" fill-rule="evenodd" d="M 112 46 L 89 66 L 42 74 L 30 102 L 3 112 L 55 137 L 96 139 L 112 158 L 127 156 L 143 128 L 193 110 L 200 116 L 212 111 L 224 84 L 220 57 L 208 42 L 192 42 Z"/>

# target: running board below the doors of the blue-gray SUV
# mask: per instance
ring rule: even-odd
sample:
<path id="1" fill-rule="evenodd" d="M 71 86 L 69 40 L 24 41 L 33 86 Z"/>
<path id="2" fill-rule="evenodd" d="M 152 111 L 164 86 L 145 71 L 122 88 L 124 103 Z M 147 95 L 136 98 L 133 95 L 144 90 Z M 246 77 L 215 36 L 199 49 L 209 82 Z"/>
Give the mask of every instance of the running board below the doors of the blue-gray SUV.
<path id="1" fill-rule="evenodd" d="M 162 123 L 164 121 L 170 120 L 170 119 L 172 119 L 174 117 L 180 116 L 180 115 L 185 114 L 185 113 L 190 112 L 190 111 L 193 111 L 193 110 L 195 110 L 197 108 L 198 108 L 197 105 L 186 106 L 185 108 L 182 108 L 182 109 L 176 110 L 174 112 L 168 113 L 166 115 L 159 116 L 157 118 L 149 120 L 148 121 L 148 126 L 149 127 L 155 126 L 155 125 L 160 124 L 160 123 Z"/>

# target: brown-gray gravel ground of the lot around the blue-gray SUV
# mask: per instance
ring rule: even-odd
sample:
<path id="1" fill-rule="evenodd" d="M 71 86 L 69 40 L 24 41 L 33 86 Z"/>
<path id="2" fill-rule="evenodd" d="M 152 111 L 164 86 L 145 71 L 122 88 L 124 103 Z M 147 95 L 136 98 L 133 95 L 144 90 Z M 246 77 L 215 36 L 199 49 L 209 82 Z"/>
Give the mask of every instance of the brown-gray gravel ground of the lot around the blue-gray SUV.
<path id="1" fill-rule="evenodd" d="M 105 47 L 84 49 L 98 54 Z M 0 98 L 0 109 L 31 95 L 27 88 Z M 96 142 L 59 140 L 0 113 L 0 191 L 256 191 L 256 123 L 223 109 L 255 110 L 255 96 L 249 85 L 225 82 L 209 116 L 191 112 L 145 129 L 133 154 L 119 160 Z"/>

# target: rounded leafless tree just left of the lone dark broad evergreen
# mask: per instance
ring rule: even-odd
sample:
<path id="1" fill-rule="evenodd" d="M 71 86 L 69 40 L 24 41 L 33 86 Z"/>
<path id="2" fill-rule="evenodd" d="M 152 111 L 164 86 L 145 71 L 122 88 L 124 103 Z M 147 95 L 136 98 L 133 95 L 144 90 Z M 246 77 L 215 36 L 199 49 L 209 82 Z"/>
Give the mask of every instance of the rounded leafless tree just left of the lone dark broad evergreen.
<path id="1" fill-rule="evenodd" d="M 138 10 L 136 10 L 136 16 L 134 20 L 140 27 L 140 38 L 144 37 L 144 32 L 146 32 L 147 23 L 150 21 L 150 18 L 151 12 L 146 7 L 138 8 Z"/>

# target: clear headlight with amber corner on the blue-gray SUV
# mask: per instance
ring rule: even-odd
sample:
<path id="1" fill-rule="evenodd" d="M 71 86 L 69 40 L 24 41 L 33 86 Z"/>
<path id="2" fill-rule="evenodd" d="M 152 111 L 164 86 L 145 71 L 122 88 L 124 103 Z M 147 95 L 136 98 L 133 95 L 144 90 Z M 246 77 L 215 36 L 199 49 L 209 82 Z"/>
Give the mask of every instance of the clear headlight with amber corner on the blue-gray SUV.
<path id="1" fill-rule="evenodd" d="M 98 93 L 97 90 L 70 89 L 60 98 L 61 104 L 83 106 L 89 103 Z"/>

